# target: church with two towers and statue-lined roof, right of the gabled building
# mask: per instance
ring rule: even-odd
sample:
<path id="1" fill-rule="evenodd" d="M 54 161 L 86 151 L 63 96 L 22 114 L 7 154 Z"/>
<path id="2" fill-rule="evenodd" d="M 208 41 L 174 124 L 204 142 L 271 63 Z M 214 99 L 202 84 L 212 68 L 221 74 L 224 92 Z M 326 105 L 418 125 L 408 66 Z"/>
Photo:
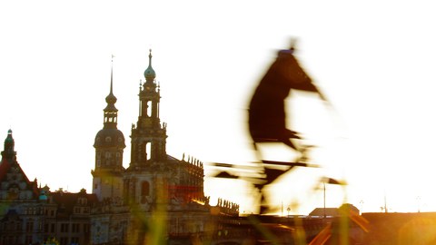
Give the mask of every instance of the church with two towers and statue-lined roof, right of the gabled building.
<path id="1" fill-rule="evenodd" d="M 93 193 L 100 201 L 91 215 L 92 244 L 179 244 L 207 239 L 220 215 L 238 216 L 230 201 L 209 205 L 204 195 L 203 162 L 178 160 L 166 153 L 166 123 L 160 119 L 160 87 L 152 54 L 139 89 L 138 120 L 131 129 L 131 162 L 123 167 L 124 135 L 117 129 L 116 97 L 111 89 L 104 128 L 95 136 Z M 218 216 L 211 209 L 218 208 Z"/>

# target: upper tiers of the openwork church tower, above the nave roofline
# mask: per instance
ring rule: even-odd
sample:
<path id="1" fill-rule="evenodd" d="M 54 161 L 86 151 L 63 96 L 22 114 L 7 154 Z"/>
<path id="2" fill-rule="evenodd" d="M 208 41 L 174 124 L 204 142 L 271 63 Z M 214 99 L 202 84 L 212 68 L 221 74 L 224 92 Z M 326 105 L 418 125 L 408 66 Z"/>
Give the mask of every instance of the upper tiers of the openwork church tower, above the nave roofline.
<path id="1" fill-rule="evenodd" d="M 160 88 L 154 81 L 156 73 L 152 67 L 152 51 L 144 71 L 145 83 L 139 89 L 139 116 L 136 127 L 132 127 L 132 152 L 130 168 L 145 170 L 154 162 L 166 158 L 166 124 L 159 118 Z"/>

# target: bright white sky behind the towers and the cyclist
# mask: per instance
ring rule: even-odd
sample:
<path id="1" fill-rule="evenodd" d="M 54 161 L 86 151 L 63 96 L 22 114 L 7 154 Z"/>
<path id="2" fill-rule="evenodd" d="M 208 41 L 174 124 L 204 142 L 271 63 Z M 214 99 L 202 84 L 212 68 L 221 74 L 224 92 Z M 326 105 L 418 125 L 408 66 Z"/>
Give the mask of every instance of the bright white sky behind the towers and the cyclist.
<path id="1" fill-rule="evenodd" d="M 335 110 L 314 96 L 289 102 L 293 128 L 319 146 L 312 161 L 323 168 L 282 178 L 274 203 L 299 203 L 292 206 L 298 213 L 322 207 L 322 191 L 312 188 L 328 175 L 349 182 L 346 197 L 327 187 L 329 207 L 346 198 L 362 211 L 381 211 L 386 197 L 390 211 L 436 211 L 436 8 L 428 3 L 1 2 L 0 139 L 12 128 L 31 180 L 52 191 L 90 191 L 111 54 L 127 166 L 152 48 L 167 152 L 205 163 L 253 161 L 249 97 L 276 50 L 296 37 L 300 62 Z M 243 185 L 207 179 L 206 194 L 248 212 L 253 200 L 245 196 L 253 193 L 233 188 Z"/>

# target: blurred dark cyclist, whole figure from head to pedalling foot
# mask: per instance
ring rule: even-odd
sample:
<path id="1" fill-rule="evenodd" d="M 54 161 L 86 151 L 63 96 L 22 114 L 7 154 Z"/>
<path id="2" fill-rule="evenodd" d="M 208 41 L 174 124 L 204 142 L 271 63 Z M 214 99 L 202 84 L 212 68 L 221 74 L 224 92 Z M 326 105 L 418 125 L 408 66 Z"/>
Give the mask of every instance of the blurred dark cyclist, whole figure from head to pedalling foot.
<path id="1" fill-rule="evenodd" d="M 248 126 L 253 139 L 254 150 L 263 162 L 263 182 L 254 186 L 261 192 L 260 212 L 268 209 L 268 203 L 263 193 L 263 187 L 277 180 L 284 173 L 291 171 L 295 166 L 307 167 L 306 150 L 308 146 L 295 143 L 301 137 L 292 129 L 286 128 L 285 100 L 292 94 L 292 90 L 317 93 L 326 101 L 320 90 L 312 83 L 312 79 L 304 72 L 302 66 L 294 56 L 295 40 L 291 47 L 280 50 L 277 58 L 264 74 L 256 87 L 248 111 Z M 265 161 L 257 144 L 263 142 L 282 142 L 300 153 L 295 162 Z M 285 165 L 285 169 L 276 166 Z"/>

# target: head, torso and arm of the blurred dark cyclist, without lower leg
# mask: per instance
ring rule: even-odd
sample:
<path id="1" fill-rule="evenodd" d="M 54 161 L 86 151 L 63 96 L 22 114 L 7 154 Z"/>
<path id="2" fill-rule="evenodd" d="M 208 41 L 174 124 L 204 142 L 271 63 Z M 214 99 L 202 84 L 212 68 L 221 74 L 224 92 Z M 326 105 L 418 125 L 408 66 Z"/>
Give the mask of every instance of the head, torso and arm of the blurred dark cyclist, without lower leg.
<path id="1" fill-rule="evenodd" d="M 286 113 L 284 101 L 290 96 L 291 90 L 318 93 L 326 101 L 322 93 L 312 83 L 312 79 L 304 72 L 294 57 L 295 41 L 291 47 L 280 50 L 276 60 L 263 76 L 255 89 L 249 106 L 248 125 L 256 143 L 282 142 L 292 149 L 301 152 L 300 146 L 292 139 L 301 139 L 297 132 L 286 128 Z"/>

